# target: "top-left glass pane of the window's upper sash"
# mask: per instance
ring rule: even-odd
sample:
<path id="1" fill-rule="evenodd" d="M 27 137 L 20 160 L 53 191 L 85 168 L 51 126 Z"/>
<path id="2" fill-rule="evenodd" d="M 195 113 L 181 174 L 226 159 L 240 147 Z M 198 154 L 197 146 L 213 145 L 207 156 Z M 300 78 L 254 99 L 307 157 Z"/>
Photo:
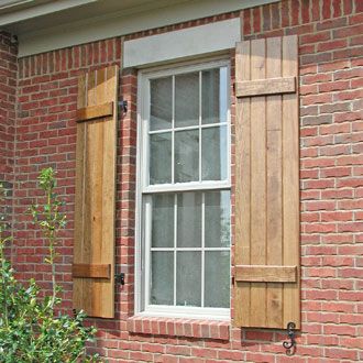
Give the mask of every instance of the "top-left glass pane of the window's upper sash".
<path id="1" fill-rule="evenodd" d="M 150 81 L 150 129 L 172 128 L 172 77 Z"/>

